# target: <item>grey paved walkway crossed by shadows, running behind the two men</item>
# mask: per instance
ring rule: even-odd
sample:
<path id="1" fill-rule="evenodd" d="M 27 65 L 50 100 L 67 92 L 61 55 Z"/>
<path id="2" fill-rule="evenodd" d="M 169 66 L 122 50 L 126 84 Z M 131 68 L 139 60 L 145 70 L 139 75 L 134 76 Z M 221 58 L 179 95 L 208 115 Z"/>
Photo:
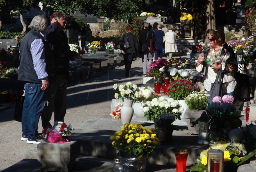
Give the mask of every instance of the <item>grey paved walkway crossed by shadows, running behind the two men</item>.
<path id="1" fill-rule="evenodd" d="M 141 58 L 132 62 L 131 78 L 124 78 L 124 65 L 114 70 L 105 71 L 89 80 L 72 83 L 67 90 L 67 114 L 65 123 L 76 128 L 87 120 L 99 120 L 111 111 L 111 100 L 114 98 L 113 85 L 130 81 L 141 86 L 143 71 Z M 21 123 L 13 120 L 14 108 L 0 112 L 0 170 L 23 159 L 28 149 L 36 147 L 21 141 Z M 53 119 L 51 121 L 53 123 Z M 39 130 L 42 131 L 41 120 Z"/>

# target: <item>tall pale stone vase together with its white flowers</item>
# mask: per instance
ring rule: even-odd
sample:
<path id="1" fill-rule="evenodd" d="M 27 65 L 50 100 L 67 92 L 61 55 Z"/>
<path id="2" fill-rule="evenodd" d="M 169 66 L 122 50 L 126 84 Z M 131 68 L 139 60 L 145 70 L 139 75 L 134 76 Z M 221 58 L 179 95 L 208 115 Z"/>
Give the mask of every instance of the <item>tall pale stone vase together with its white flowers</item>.
<path id="1" fill-rule="evenodd" d="M 121 108 L 121 114 L 123 114 L 121 116 L 122 123 L 130 123 L 133 115 L 132 103 L 136 98 L 135 92 L 139 91 L 138 86 L 131 82 L 127 82 L 126 85 L 120 86 L 114 84 L 113 89 L 116 90 L 117 88 L 120 93 L 115 93 L 115 98 L 124 101 L 123 107 Z"/>

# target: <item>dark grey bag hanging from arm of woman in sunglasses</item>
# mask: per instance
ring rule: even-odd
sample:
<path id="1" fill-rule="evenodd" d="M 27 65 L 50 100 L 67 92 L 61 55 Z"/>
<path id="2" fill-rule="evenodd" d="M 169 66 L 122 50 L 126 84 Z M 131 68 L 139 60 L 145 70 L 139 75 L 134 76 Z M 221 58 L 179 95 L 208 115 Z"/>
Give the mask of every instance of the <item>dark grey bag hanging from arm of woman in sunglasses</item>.
<path id="1" fill-rule="evenodd" d="M 217 77 L 214 81 L 214 83 L 211 84 L 211 91 L 210 91 L 210 104 L 212 104 L 212 99 L 215 96 L 220 96 L 222 97 L 222 69 L 220 68 L 217 74 Z"/>

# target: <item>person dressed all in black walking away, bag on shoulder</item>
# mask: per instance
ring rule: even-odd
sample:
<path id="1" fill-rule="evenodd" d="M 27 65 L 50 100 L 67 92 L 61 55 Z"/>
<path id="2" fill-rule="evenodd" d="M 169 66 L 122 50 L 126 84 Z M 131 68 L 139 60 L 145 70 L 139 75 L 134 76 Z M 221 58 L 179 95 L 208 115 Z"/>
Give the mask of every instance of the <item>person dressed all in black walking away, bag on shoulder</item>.
<path id="1" fill-rule="evenodd" d="M 120 41 L 122 54 L 124 55 L 125 78 L 130 77 L 130 69 L 132 66 L 132 59 L 138 54 L 138 41 L 134 34 L 132 34 L 132 26 L 126 27 L 126 34 L 124 34 Z M 129 42 L 130 48 L 124 48 L 124 41 Z"/>

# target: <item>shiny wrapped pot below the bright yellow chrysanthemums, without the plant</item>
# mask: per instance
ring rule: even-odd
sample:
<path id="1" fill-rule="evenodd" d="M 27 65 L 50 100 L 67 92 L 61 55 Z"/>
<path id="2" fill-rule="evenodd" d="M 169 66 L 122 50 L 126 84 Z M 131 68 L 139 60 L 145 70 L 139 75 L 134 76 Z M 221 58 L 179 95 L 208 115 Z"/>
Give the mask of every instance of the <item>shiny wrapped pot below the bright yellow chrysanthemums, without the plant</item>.
<path id="1" fill-rule="evenodd" d="M 136 157 L 132 153 L 120 153 L 120 158 L 124 161 L 124 171 L 130 172 L 130 171 L 140 171 L 144 172 L 146 171 L 146 158 L 143 156 L 141 158 Z"/>

